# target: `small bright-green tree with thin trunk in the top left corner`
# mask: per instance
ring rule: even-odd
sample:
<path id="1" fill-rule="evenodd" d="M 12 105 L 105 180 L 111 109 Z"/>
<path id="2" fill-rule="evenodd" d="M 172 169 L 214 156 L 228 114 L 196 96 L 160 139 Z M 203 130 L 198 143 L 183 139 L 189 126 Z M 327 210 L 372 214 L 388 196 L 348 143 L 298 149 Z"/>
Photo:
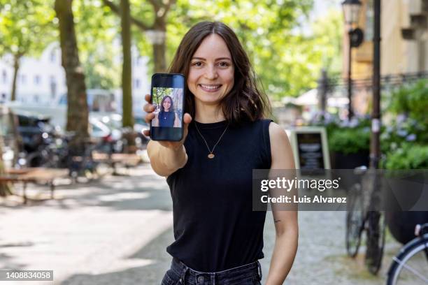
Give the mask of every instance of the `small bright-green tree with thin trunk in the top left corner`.
<path id="1" fill-rule="evenodd" d="M 17 73 L 24 55 L 38 55 L 55 39 L 55 13 L 42 0 L 0 0 L 0 56 L 12 56 L 10 100 L 16 99 Z"/>

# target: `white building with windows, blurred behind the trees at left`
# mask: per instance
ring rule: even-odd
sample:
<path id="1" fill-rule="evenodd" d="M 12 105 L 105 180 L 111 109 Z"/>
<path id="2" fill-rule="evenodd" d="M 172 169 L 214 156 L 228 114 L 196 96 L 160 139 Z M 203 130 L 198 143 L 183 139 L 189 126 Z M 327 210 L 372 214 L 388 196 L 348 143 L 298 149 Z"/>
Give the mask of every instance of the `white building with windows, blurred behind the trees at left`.
<path id="1" fill-rule="evenodd" d="M 144 95 L 150 92 L 148 58 L 139 56 L 135 47 L 132 54 L 134 114 L 141 115 Z M 12 58 L 7 55 L 0 59 L 0 102 L 10 100 L 13 82 L 12 62 Z M 58 43 L 48 45 L 40 57 L 22 57 L 17 73 L 16 101 L 26 105 L 55 107 L 64 102 L 66 91 L 66 76 L 61 65 L 61 50 Z M 115 89 L 110 92 L 115 98 L 115 111 L 122 112 L 122 90 Z"/>

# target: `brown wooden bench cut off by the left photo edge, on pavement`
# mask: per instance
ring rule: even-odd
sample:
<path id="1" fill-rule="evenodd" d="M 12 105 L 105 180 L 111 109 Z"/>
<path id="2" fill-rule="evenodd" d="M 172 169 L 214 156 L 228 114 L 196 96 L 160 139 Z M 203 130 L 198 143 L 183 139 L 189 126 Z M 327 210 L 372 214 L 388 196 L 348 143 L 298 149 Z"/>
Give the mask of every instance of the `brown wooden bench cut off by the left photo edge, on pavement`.
<path id="1" fill-rule="evenodd" d="M 27 204 L 27 184 L 45 182 L 50 186 L 50 198 L 54 198 L 55 180 L 68 177 L 69 170 L 57 168 L 8 169 L 0 175 L 0 183 L 22 183 L 22 196 Z"/>

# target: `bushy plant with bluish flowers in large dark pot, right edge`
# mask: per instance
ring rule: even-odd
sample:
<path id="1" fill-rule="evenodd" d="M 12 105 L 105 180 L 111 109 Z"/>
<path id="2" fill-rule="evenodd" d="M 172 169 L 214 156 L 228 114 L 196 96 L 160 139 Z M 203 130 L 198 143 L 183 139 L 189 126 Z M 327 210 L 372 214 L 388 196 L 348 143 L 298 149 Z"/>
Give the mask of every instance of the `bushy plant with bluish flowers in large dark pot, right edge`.
<path id="1" fill-rule="evenodd" d="M 394 119 L 381 134 L 387 170 L 428 169 L 428 80 L 401 87 L 388 107 Z M 402 189 L 408 191 L 408 189 Z M 428 221 L 428 212 L 387 212 L 386 221 L 396 240 L 405 244 L 414 238 L 416 224 Z"/>

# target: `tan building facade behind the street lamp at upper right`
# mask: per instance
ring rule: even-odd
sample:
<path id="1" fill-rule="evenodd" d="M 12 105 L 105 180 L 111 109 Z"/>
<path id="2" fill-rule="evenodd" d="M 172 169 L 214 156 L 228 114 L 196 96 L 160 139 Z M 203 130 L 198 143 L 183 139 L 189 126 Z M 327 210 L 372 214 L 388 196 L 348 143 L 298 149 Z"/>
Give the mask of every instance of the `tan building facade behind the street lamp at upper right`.
<path id="1" fill-rule="evenodd" d="M 352 107 L 357 113 L 369 111 L 373 76 L 373 0 L 360 0 L 358 27 L 364 31 L 362 45 L 352 48 L 352 80 L 356 86 Z M 383 78 L 425 77 L 428 72 L 428 0 L 381 1 L 380 73 Z M 348 28 L 343 33 L 343 78 L 348 76 Z M 390 76 L 389 76 L 390 75 Z M 357 82 L 368 80 L 366 86 Z M 387 85 L 385 80 L 383 85 Z"/>

